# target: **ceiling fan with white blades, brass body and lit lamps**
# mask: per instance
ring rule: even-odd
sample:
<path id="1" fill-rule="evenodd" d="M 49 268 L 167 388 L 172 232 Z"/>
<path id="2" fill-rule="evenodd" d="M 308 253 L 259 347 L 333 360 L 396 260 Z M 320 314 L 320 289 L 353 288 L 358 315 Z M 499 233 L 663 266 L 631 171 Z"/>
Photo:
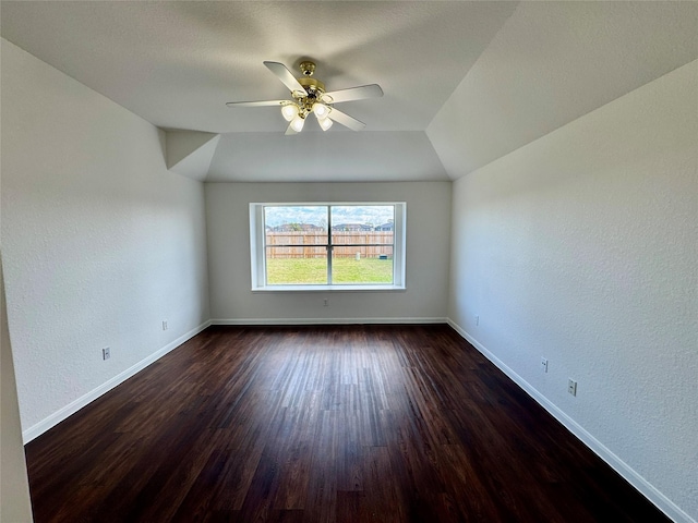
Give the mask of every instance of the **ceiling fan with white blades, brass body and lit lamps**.
<path id="1" fill-rule="evenodd" d="M 293 74 L 279 62 L 264 62 L 264 65 L 272 71 L 281 83 L 291 92 L 292 100 L 264 100 L 264 101 L 229 101 L 228 107 L 264 107 L 280 106 L 281 115 L 289 122 L 286 134 L 300 133 L 305 123 L 305 119 L 312 112 L 317 119 L 323 131 L 332 127 L 333 121 L 345 125 L 352 131 L 361 131 L 366 126 L 356 118 L 341 112 L 334 107 L 342 101 L 362 100 L 365 98 L 380 98 L 383 89 L 377 84 L 362 85 L 349 89 L 325 92 L 325 84 L 320 80 L 312 78 L 315 72 L 315 63 L 303 61 L 300 70 L 303 76 L 296 78 Z"/>

